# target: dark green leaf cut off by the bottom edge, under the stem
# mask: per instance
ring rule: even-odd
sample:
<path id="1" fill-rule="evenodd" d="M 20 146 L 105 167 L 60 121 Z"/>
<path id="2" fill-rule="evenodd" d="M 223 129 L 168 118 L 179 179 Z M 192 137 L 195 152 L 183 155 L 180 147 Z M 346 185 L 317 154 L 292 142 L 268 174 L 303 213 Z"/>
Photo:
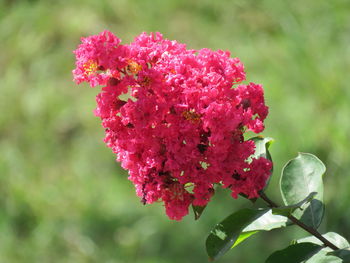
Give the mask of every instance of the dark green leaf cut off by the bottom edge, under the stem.
<path id="1" fill-rule="evenodd" d="M 321 246 L 313 243 L 300 243 L 278 250 L 271 254 L 266 263 L 301 263 L 311 258 L 322 249 Z"/>

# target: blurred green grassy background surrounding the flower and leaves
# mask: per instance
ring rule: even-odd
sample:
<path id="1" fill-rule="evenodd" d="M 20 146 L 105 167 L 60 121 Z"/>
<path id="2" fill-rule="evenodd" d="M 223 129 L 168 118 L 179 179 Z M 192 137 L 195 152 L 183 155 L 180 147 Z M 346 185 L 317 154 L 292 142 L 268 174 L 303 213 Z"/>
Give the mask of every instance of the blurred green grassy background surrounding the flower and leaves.
<path id="1" fill-rule="evenodd" d="M 269 195 L 280 201 L 287 160 L 316 154 L 327 166 L 321 232 L 350 238 L 348 0 L 0 0 L 0 262 L 207 262 L 211 227 L 250 205 L 221 190 L 199 221 L 175 222 L 140 203 L 102 141 L 98 88 L 71 81 L 80 37 L 104 29 L 124 43 L 160 31 L 241 58 L 270 106 Z M 219 262 L 263 262 L 306 235 L 262 233 Z"/>

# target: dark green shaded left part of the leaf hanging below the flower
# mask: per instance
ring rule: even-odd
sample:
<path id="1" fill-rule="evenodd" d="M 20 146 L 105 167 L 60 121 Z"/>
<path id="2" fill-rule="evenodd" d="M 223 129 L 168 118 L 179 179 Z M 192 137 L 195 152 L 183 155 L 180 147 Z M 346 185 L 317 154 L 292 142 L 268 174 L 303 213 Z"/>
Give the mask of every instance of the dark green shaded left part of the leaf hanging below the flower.
<path id="1" fill-rule="evenodd" d="M 206 249 L 210 260 L 224 255 L 239 238 L 243 229 L 268 210 L 241 209 L 217 224 L 206 240 Z"/>

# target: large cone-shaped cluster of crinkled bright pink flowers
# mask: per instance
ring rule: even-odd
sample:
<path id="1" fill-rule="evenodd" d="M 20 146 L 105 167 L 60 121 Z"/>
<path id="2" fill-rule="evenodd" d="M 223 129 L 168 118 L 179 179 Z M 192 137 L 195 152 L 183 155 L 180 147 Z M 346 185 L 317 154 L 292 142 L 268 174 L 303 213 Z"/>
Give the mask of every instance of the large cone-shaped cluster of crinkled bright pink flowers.
<path id="1" fill-rule="evenodd" d="M 74 80 L 104 86 L 95 113 L 144 204 L 162 200 L 181 220 L 191 204 L 210 201 L 215 184 L 234 198 L 258 197 L 272 163 L 249 160 L 255 145 L 243 134 L 263 131 L 268 108 L 261 85 L 239 85 L 238 58 L 160 33 L 121 45 L 109 31 L 82 38 L 74 53 Z"/>

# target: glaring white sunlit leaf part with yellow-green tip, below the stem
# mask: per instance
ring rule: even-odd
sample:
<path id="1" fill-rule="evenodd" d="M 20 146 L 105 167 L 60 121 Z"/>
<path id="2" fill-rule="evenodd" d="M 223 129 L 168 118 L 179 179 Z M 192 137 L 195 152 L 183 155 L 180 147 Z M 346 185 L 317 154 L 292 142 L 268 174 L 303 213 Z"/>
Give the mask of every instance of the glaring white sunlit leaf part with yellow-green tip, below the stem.
<path id="1" fill-rule="evenodd" d="M 274 215 L 270 209 L 243 229 L 242 233 L 239 235 L 232 248 L 238 246 L 241 242 L 253 234 L 259 233 L 260 231 L 270 231 L 275 228 L 285 227 L 287 226 L 287 222 L 287 217 Z"/>

